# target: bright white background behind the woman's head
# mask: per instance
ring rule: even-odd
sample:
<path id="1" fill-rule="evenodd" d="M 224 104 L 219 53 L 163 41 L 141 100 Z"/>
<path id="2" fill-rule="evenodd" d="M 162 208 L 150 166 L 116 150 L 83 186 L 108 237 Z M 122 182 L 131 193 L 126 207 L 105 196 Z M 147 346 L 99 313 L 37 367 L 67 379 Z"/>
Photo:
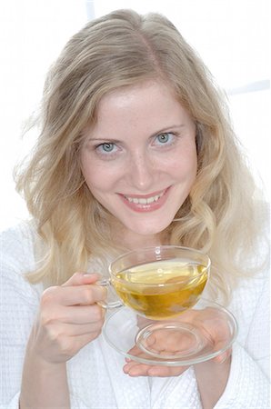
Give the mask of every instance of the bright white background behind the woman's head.
<path id="1" fill-rule="evenodd" d="M 228 94 L 236 133 L 270 197 L 270 5 L 268 0 L 3 0 L 0 5 L 0 229 L 26 215 L 12 171 L 33 145 L 22 139 L 45 74 L 68 38 L 116 8 L 169 17 Z"/>

